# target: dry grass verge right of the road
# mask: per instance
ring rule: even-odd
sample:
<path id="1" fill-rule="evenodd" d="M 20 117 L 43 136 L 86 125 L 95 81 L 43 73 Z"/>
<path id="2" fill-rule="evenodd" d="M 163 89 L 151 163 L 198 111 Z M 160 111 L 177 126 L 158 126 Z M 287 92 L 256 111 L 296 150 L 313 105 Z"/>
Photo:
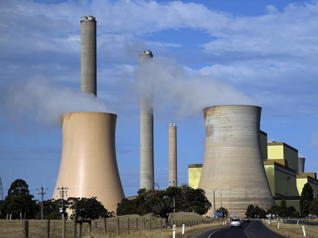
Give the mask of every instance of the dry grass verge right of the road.
<path id="1" fill-rule="evenodd" d="M 288 224 L 279 222 L 279 229 L 277 229 L 277 222 L 266 223 L 267 227 L 272 231 L 279 233 L 285 237 L 290 238 L 303 238 L 302 225 Z M 318 238 L 318 226 L 316 225 L 304 225 L 306 238 Z"/>

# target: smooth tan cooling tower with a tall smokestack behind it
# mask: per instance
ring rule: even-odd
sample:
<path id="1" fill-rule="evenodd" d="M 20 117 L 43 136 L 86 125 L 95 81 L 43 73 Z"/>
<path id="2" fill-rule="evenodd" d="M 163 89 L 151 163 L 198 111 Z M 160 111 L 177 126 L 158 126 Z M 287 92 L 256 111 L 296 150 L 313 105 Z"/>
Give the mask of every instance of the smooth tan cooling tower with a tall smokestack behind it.
<path id="1" fill-rule="evenodd" d="M 96 196 L 108 211 L 116 212 L 124 198 L 115 150 L 117 115 L 74 112 L 61 117 L 63 148 L 53 198 L 60 199 L 57 188 L 63 185 L 67 197 Z"/>

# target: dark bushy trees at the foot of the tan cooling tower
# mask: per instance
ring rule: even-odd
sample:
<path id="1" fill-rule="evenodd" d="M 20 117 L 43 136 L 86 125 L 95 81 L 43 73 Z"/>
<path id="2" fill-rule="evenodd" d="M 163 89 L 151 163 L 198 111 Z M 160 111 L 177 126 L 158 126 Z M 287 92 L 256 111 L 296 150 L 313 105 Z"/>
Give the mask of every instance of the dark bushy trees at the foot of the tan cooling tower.
<path id="1" fill-rule="evenodd" d="M 71 218 L 75 215 L 75 202 L 76 202 L 76 217 L 81 216 L 85 219 L 98 219 L 98 218 L 106 218 L 111 216 L 111 213 L 104 208 L 103 204 L 99 202 L 96 197 L 91 198 L 77 198 L 77 197 L 69 197 L 67 199 L 68 206 L 72 209 L 73 214 L 70 216 Z"/>

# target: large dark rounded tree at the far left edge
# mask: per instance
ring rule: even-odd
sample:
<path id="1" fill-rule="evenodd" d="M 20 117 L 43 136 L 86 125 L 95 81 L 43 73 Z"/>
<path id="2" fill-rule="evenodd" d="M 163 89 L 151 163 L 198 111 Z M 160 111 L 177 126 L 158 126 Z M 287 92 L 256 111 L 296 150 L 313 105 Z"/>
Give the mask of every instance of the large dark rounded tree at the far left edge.
<path id="1" fill-rule="evenodd" d="M 8 190 L 8 195 L 0 205 L 3 214 L 12 214 L 13 219 L 20 218 L 20 213 L 26 219 L 33 219 L 38 212 L 36 200 L 30 195 L 28 185 L 23 179 L 16 179 Z"/>

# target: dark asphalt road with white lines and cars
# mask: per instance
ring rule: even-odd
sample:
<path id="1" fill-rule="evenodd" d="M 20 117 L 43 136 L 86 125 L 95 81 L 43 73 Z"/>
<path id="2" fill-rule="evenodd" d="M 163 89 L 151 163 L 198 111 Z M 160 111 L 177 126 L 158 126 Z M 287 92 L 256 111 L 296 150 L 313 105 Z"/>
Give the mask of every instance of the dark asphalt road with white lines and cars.
<path id="1" fill-rule="evenodd" d="M 242 223 L 242 228 L 225 227 L 219 230 L 210 230 L 197 238 L 284 238 L 265 227 L 261 221 L 253 220 Z"/>

